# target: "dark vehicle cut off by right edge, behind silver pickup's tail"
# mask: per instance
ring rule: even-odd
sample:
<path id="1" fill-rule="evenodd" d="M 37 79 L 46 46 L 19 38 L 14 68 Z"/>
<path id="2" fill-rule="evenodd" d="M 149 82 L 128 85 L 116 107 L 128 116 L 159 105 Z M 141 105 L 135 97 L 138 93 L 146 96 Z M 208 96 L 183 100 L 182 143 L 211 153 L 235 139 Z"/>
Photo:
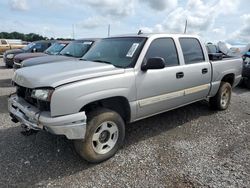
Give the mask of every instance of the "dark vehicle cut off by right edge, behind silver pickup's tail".
<path id="1" fill-rule="evenodd" d="M 243 56 L 242 78 L 245 85 L 250 89 L 250 51 Z"/>

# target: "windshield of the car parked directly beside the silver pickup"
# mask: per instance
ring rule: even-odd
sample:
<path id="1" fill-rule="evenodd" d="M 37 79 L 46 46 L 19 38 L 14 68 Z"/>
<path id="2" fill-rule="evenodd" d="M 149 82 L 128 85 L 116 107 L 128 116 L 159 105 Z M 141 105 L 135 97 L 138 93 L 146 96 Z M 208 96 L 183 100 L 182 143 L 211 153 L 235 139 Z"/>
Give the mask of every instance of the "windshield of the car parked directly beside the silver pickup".
<path id="1" fill-rule="evenodd" d="M 89 50 L 92 43 L 93 41 L 71 42 L 60 52 L 60 55 L 80 58 Z"/>

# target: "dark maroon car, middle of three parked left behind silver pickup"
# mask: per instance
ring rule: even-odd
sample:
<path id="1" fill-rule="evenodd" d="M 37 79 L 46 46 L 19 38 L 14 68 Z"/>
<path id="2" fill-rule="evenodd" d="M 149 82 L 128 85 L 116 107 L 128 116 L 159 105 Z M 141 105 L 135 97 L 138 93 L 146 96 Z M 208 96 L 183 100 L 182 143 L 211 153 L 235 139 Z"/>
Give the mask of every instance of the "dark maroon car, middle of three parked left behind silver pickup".
<path id="1" fill-rule="evenodd" d="M 70 41 L 57 41 L 44 52 L 18 54 L 14 57 L 13 68 L 14 69 L 20 68 L 21 62 L 26 59 L 42 57 L 47 55 L 58 55 L 69 43 Z"/>

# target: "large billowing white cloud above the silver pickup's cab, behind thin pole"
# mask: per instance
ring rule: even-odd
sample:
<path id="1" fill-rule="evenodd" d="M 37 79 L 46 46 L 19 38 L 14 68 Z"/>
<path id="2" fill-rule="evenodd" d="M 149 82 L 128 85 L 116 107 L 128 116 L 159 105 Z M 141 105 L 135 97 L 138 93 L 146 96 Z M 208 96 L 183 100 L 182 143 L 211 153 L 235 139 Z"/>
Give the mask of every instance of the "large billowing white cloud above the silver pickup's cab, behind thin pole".
<path id="1" fill-rule="evenodd" d="M 189 0 L 186 5 L 171 11 L 166 16 L 166 19 L 156 24 L 151 30 L 155 32 L 183 33 L 187 20 L 187 33 L 204 34 L 206 31 L 213 30 L 215 19 L 219 15 L 233 13 L 237 10 L 237 6 L 236 0 L 220 0 L 215 3 L 212 1 Z"/>

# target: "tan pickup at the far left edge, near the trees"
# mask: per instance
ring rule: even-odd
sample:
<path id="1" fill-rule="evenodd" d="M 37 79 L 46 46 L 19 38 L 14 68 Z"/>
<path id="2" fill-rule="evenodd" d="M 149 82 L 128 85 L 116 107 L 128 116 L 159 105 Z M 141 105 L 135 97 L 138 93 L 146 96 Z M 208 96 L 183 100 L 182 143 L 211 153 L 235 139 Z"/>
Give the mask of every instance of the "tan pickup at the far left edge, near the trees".
<path id="1" fill-rule="evenodd" d="M 7 50 L 20 49 L 25 46 L 26 44 L 23 44 L 21 40 L 0 39 L 0 54 Z"/>

